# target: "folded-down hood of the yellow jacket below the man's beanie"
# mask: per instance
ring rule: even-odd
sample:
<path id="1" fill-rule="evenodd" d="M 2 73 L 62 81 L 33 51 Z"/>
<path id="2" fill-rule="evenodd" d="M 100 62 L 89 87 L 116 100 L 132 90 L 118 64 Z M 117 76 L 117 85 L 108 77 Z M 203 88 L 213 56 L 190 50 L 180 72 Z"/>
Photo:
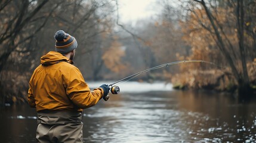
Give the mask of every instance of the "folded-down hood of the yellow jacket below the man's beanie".
<path id="1" fill-rule="evenodd" d="M 64 55 L 60 54 L 59 52 L 50 51 L 46 55 L 41 57 L 41 64 L 43 66 L 50 66 L 53 64 L 57 64 L 60 61 L 66 61 L 67 63 L 73 64 L 72 60 L 69 60 Z"/>

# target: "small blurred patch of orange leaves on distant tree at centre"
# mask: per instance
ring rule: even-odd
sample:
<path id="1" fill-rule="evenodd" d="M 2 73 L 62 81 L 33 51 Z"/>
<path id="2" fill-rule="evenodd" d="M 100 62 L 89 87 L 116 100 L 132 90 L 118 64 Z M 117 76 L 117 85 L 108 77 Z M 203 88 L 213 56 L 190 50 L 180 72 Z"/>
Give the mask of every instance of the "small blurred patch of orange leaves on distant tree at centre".
<path id="1" fill-rule="evenodd" d="M 125 64 L 122 62 L 122 57 L 125 56 L 125 51 L 122 49 L 121 43 L 113 41 L 110 48 L 103 54 L 103 61 L 107 69 L 119 73 L 122 70 L 127 69 Z"/>

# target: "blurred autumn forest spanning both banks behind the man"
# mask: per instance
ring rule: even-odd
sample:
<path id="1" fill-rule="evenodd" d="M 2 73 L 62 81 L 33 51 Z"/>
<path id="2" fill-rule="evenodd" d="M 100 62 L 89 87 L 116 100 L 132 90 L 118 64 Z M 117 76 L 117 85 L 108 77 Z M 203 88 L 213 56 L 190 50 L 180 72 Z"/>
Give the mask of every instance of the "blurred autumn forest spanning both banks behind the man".
<path id="1" fill-rule="evenodd" d="M 55 50 L 53 36 L 60 29 L 78 41 L 75 66 L 86 81 L 118 80 L 172 61 L 205 60 L 218 66 L 180 64 L 135 80 L 255 94 L 255 0 L 162 0 L 158 15 L 135 24 L 119 21 L 119 2 L 2 0 L 1 105 L 26 102 L 30 76 L 40 57 Z"/>

